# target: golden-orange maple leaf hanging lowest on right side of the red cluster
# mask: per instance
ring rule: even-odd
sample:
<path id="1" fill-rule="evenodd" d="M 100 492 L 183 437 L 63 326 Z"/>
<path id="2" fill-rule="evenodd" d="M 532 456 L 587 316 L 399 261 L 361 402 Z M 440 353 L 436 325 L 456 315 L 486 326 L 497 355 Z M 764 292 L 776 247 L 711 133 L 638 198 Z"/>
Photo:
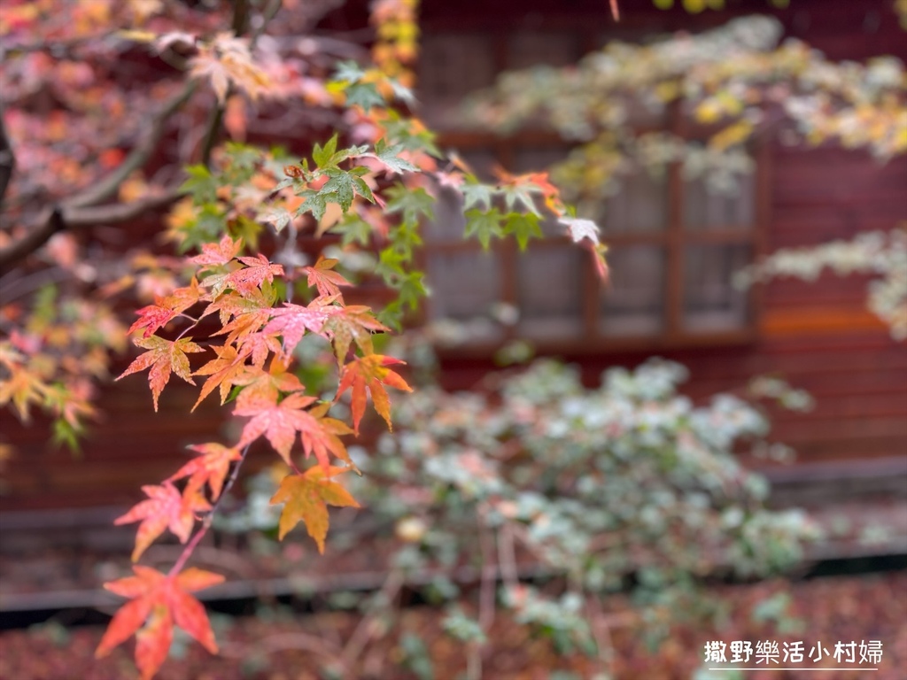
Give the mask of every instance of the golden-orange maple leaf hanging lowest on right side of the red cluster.
<path id="1" fill-rule="evenodd" d="M 327 538 L 327 506 L 358 508 L 349 491 L 331 479 L 346 472 L 348 468 L 316 465 L 303 474 L 291 474 L 280 482 L 277 493 L 271 498 L 271 505 L 284 503 L 280 513 L 278 535 L 280 539 L 288 534 L 300 521 L 306 523 L 308 535 L 315 539 L 318 552 L 324 554 Z"/>

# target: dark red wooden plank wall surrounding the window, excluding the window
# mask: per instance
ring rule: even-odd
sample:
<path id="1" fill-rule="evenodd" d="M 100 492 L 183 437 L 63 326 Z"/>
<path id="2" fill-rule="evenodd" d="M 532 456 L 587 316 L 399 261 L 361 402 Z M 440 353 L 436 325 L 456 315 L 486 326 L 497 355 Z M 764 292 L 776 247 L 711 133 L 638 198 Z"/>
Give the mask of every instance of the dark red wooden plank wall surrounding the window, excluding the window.
<path id="1" fill-rule="evenodd" d="M 436 20 L 441 5 L 426 5 L 426 20 Z M 544 5 L 527 0 L 514 4 L 512 12 L 541 11 Z M 575 5 L 592 8 L 579 0 Z M 600 10 L 605 5 L 597 0 L 594 6 Z M 769 10 L 764 2 L 731 5 L 734 13 Z M 887 0 L 795 0 L 792 5 L 789 12 L 774 14 L 785 21 L 790 34 L 808 39 L 834 58 L 905 52 L 907 34 L 897 27 Z M 488 11 L 486 3 L 456 7 L 461 16 L 471 7 Z M 648 16 L 663 28 L 727 18 L 719 13 L 694 18 L 654 11 Z M 907 159 L 881 165 L 863 152 L 780 146 L 771 155 L 769 249 L 849 238 L 907 219 Z M 694 397 L 740 387 L 754 374 L 766 372 L 783 374 L 813 393 L 813 413 L 775 417 L 777 438 L 794 445 L 800 461 L 907 455 L 907 345 L 892 341 L 865 310 L 864 298 L 865 281 L 855 277 L 823 277 L 814 284 L 776 281 L 766 287 L 754 343 L 663 354 L 688 365 L 688 393 Z M 592 377 L 607 366 L 637 364 L 644 358 L 587 355 L 582 362 Z M 450 360 L 444 379 L 466 387 L 489 367 L 488 362 Z M 105 386 L 100 402 L 105 420 L 93 427 L 78 459 L 50 448 L 42 423 L 23 428 L 9 413 L 0 415 L 5 436 L 16 449 L 0 473 L 0 511 L 134 503 L 141 484 L 159 483 L 186 460 L 186 444 L 214 441 L 224 434 L 214 397 L 187 414 L 197 391 L 174 383 L 161 399 L 160 413 L 151 411 L 151 394 L 139 378 Z"/>

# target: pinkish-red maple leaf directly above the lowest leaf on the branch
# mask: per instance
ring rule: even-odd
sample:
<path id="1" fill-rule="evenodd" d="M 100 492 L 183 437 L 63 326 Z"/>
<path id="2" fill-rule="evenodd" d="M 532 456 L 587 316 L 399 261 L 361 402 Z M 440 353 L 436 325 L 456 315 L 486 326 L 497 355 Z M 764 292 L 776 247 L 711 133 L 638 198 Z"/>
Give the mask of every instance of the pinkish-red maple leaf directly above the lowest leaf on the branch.
<path id="1" fill-rule="evenodd" d="M 211 509 L 197 484 L 190 483 L 182 493 L 169 481 L 162 485 L 143 486 L 141 491 L 145 492 L 148 500 L 142 500 L 125 515 L 113 520 L 116 525 L 141 522 L 135 537 L 135 549 L 132 551 L 133 562 L 141 557 L 141 553 L 164 529 L 170 529 L 180 539 L 180 543 L 185 543 L 195 524 L 195 513 Z"/>

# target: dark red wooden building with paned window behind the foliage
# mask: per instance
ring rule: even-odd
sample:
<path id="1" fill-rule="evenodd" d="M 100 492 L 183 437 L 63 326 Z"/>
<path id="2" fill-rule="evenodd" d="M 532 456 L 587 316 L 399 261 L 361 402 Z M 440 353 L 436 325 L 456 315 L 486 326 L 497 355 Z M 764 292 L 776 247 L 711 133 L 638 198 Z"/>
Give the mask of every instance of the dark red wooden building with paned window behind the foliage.
<path id="1" fill-rule="evenodd" d="M 835 60 L 907 55 L 907 33 L 889 0 L 794 0 L 785 10 L 764 0 L 727 4 L 723 12 L 689 15 L 621 2 L 624 17 L 615 25 L 602 0 L 428 0 L 421 68 L 428 117 L 440 107 L 443 125 L 444 107 L 490 83 L 502 68 L 571 63 L 611 37 L 694 31 L 753 12 L 777 16 L 786 34 Z M 560 142 L 519 135 L 449 132 L 445 141 L 477 166 L 496 160 L 512 170 L 562 153 Z M 541 353 L 579 361 L 590 380 L 608 366 L 639 364 L 653 354 L 688 366 L 687 392 L 696 398 L 736 389 L 755 374 L 782 375 L 812 393 L 816 405 L 806 414 L 775 413 L 775 438 L 798 452 L 795 466 L 773 472 L 777 479 L 857 475 L 867 490 L 881 488 L 873 480 L 888 488 L 892 480 L 907 484 L 907 346 L 866 310 L 866 280 L 779 279 L 747 295 L 728 278 L 776 248 L 894 228 L 907 219 L 907 158 L 881 164 L 863 151 L 771 141 L 759 151 L 752 186 L 729 207 L 695 199 L 700 187 L 666 181 L 653 188 L 640 180 L 613 207 L 618 217 L 606 224 L 606 238 L 614 287 L 604 294 L 580 254 L 562 240 L 542 243 L 528 257 L 509 247 L 482 256 L 477 247 L 445 245 L 439 222 L 425 254 L 437 294 L 428 314 L 468 317 L 495 302 L 510 303 L 521 310 L 512 336 L 532 339 Z M 659 191 L 663 198 L 653 199 Z M 676 199 L 678 192 L 685 192 L 686 203 Z M 691 228 L 694 223 L 702 228 Z M 555 273 L 542 277 L 539 271 Z M 477 337 L 445 351 L 444 380 L 455 388 L 474 384 L 492 367 L 489 351 L 502 339 Z M 153 413 L 143 381 L 106 386 L 104 420 L 93 427 L 81 457 L 50 448 L 40 423 L 21 428 L 6 414 L 4 430 L 16 452 L 2 473 L 0 511 L 134 503 L 141 484 L 158 483 L 185 460 L 186 444 L 222 435 L 213 399 L 188 413 L 196 394 L 171 384 L 160 413 Z"/>

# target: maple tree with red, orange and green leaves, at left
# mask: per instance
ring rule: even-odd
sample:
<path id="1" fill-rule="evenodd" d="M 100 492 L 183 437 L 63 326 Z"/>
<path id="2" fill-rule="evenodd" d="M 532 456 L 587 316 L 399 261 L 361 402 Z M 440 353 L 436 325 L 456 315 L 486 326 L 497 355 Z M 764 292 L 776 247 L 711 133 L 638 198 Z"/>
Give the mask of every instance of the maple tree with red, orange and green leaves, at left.
<path id="1" fill-rule="evenodd" d="M 112 618 L 97 655 L 135 635 L 143 678 L 166 658 L 174 625 L 217 649 L 190 592 L 222 577 L 186 564 L 250 452 L 267 442 L 288 468 L 271 497 L 284 504 L 281 538 L 302 522 L 324 551 L 327 506 L 357 507 L 338 481 L 356 471 L 344 437 L 358 434 L 369 401 L 389 429 L 391 394 L 411 390 L 398 373 L 402 360 L 380 354 L 373 334 L 399 329 L 426 294 L 415 254 L 440 188 L 462 197 L 465 238 L 486 248 L 513 238 L 525 248 L 541 236 L 547 214 L 607 277 L 598 228 L 565 205 L 547 173 L 500 170 L 483 182 L 462 160 L 445 158 L 413 116 L 415 0 L 372 5 L 370 52 L 317 33 L 335 6 L 236 0 L 229 11 L 226 4 L 209 11 L 158 0 L 11 0 L 0 16 L 8 93 L 0 119 L 0 267 L 10 269 L 0 307 L 0 405 L 11 404 L 24 421 L 41 410 L 54 438 L 77 447 L 111 354 L 132 336 L 145 352 L 117 379 L 147 370 L 155 410 L 172 374 L 193 385 L 201 377 L 195 406 L 217 391 L 239 423 L 231 442 L 194 444 L 196 458 L 143 487 L 148 498 L 116 520 L 139 523 L 133 561 L 165 531 L 184 545 L 166 574 L 136 564 L 134 577 L 106 586 L 130 602 Z M 670 59 L 669 50 L 658 54 Z M 775 61 L 744 56 L 757 84 L 766 73 L 789 76 L 811 58 L 796 50 Z M 136 64 L 134 77 L 112 69 L 118 59 Z M 614 87 L 649 84 L 633 59 L 622 65 L 624 79 Z M 722 96 L 720 78 L 737 72 L 708 65 L 693 73 L 706 92 L 697 115 L 739 115 L 713 138 L 718 151 L 734 151 L 751 127 L 738 102 Z M 873 73 L 885 75 L 884 66 Z M 678 73 L 668 76 L 673 83 Z M 902 151 L 889 125 L 902 112 L 900 91 L 888 88 L 895 90 L 888 96 L 886 85 L 878 101 L 861 106 L 862 91 L 851 87 L 860 77 L 831 88 L 844 99 L 843 113 L 794 110 L 806 113 L 797 120 L 824 139 L 844 137 L 855 116 L 872 125 L 844 141 L 883 155 Z M 673 84 L 654 83 L 666 102 L 682 90 Z M 576 89 L 551 99 L 527 85 L 522 103 L 498 102 L 485 113 L 501 123 L 506 112 L 504 122 L 515 124 L 542 103 L 574 106 Z M 305 142 L 293 152 L 246 143 L 299 130 Z M 586 160 L 610 158 L 613 149 L 602 146 L 610 139 L 590 143 L 601 148 Z M 581 202 L 589 188 L 565 177 L 561 186 Z M 116 235 L 143 220 L 156 226 L 164 209 L 167 254 L 160 244 L 123 245 Z M 338 242 L 337 257 L 300 246 L 300 236 L 326 235 Z M 358 271 L 355 254 L 370 257 Z M 345 294 L 352 300 L 357 287 L 375 281 L 390 292 L 387 304 L 347 304 Z M 123 298 L 141 305 L 128 329 L 119 315 Z M 308 340 L 333 355 L 327 393 L 297 374 Z M 483 465 L 467 462 L 481 482 Z"/>

